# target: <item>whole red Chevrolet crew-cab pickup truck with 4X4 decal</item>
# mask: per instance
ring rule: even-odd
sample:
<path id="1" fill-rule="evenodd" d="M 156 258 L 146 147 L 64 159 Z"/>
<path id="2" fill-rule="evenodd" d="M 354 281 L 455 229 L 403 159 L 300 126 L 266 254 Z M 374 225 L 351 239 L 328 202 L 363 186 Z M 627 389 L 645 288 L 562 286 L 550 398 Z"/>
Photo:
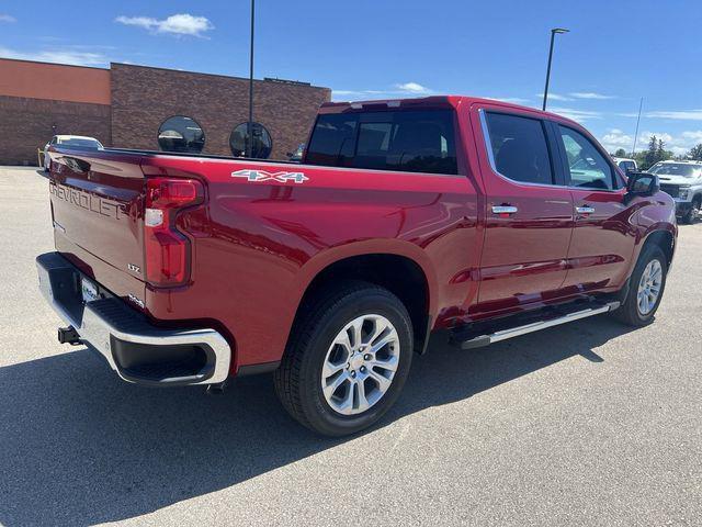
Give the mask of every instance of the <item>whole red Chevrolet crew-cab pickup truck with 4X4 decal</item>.
<path id="1" fill-rule="evenodd" d="M 658 307 L 675 203 L 573 121 L 328 103 L 307 145 L 302 164 L 53 147 L 37 267 L 59 340 L 140 384 L 273 371 L 297 421 L 344 435 L 396 401 L 432 332 L 467 349 Z"/>

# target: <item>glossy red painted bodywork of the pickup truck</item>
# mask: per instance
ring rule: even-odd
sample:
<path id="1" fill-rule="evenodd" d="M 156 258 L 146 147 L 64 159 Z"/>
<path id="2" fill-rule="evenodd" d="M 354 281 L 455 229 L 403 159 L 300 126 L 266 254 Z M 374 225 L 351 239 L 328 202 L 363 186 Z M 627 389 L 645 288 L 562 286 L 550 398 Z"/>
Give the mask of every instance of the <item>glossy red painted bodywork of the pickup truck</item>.
<path id="1" fill-rule="evenodd" d="M 143 299 L 155 322 L 223 330 L 236 349 L 236 372 L 242 365 L 281 358 L 306 288 L 343 258 L 392 254 L 414 260 L 427 277 L 434 327 L 446 327 L 584 291 L 614 291 L 648 234 L 677 234 L 667 194 L 625 204 L 624 190 L 526 187 L 501 178 L 489 166 L 477 111 L 499 106 L 547 115 L 582 131 L 577 123 L 477 99 L 424 103 L 456 110 L 458 176 L 53 152 L 58 162 L 52 188 L 77 192 L 73 202 L 52 193 L 54 218 L 66 229 L 56 231 L 56 247 L 114 293 Z M 321 112 L 344 109 L 329 104 Z M 303 171 L 308 179 L 298 184 L 231 177 L 241 169 Z M 197 178 L 205 187 L 205 202 L 177 220 L 192 244 L 190 283 L 183 287 L 145 285 L 139 273 L 127 270 L 127 264 L 144 269 L 144 180 L 156 176 Z M 105 204 L 98 212 L 81 208 L 75 203 L 84 200 L 81 192 Z M 502 203 L 519 212 L 492 214 L 490 206 Z M 577 216 L 574 206 L 581 203 L 597 213 Z"/>

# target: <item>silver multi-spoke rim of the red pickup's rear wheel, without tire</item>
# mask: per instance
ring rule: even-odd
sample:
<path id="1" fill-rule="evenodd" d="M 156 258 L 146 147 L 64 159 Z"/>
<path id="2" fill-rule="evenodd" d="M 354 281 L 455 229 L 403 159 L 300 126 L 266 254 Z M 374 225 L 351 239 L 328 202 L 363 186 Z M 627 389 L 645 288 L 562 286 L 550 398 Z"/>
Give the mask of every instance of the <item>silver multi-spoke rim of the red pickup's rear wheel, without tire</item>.
<path id="1" fill-rule="evenodd" d="M 335 337 L 321 368 L 321 391 L 335 412 L 355 415 L 376 404 L 393 383 L 399 336 L 382 315 L 359 316 Z"/>

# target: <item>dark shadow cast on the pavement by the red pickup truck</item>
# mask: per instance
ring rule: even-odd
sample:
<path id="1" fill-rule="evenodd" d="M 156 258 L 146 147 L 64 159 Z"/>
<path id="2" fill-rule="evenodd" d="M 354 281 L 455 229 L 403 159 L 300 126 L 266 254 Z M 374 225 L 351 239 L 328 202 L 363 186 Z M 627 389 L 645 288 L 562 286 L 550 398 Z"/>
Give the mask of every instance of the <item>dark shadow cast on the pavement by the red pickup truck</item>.
<path id="1" fill-rule="evenodd" d="M 593 348 L 627 330 L 600 316 L 473 351 L 432 343 L 378 427 L 570 357 L 595 368 L 602 359 Z M 77 348 L 0 368 L 0 386 L 7 526 L 128 519 L 353 441 L 320 438 L 293 422 L 270 375 L 239 379 L 222 396 L 149 390 L 120 381 Z"/>

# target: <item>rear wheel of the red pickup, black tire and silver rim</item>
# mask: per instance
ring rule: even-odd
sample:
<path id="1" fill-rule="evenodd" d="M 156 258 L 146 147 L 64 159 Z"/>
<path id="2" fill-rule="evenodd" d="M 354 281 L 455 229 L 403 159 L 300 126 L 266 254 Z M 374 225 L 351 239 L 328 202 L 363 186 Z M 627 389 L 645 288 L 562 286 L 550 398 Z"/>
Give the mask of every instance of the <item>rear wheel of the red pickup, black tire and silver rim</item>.
<path id="1" fill-rule="evenodd" d="M 344 436 L 395 403 L 412 359 L 406 307 L 384 288 L 347 282 L 303 306 L 275 371 L 275 392 L 307 428 Z"/>

